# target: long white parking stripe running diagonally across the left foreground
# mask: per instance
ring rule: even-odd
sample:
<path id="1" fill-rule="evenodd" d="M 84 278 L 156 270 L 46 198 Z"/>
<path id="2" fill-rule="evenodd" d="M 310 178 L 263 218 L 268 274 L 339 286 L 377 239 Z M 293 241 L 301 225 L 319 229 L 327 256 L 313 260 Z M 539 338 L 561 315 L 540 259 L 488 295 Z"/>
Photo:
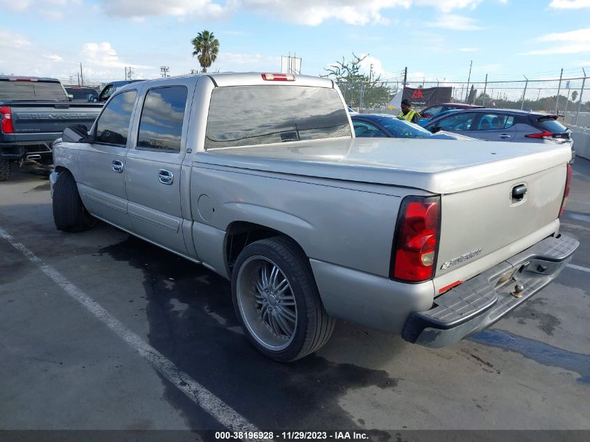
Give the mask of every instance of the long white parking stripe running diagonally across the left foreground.
<path id="1" fill-rule="evenodd" d="M 45 275 L 52 279 L 54 283 L 57 283 L 58 286 L 63 288 L 68 295 L 73 297 L 73 299 L 86 307 L 86 309 L 96 316 L 99 321 L 109 327 L 117 334 L 117 336 L 123 339 L 129 344 L 129 346 L 133 347 L 135 351 L 140 353 L 140 355 L 152 364 L 152 367 L 159 371 L 162 376 L 173 383 L 176 388 L 181 390 L 195 404 L 212 415 L 213 418 L 218 420 L 223 426 L 233 431 L 258 431 L 251 422 L 246 420 L 246 418 L 237 413 L 237 411 L 228 406 L 228 404 L 224 403 L 219 397 L 216 397 L 212 392 L 207 390 L 207 388 L 200 385 L 200 383 L 191 378 L 189 374 L 177 369 L 172 361 L 158 352 L 154 347 L 147 344 L 147 342 L 143 341 L 138 334 L 128 330 L 117 318 L 115 318 L 115 316 L 112 316 L 112 314 L 100 304 L 92 300 L 91 297 L 68 281 L 68 279 L 66 279 L 61 273 L 57 272 L 53 267 L 45 264 L 43 260 L 35 256 L 26 246 L 20 242 L 16 242 L 15 239 L 1 227 L 0 236 L 3 237 L 4 240 L 10 242 L 10 244 L 26 256 L 31 263 L 36 264 L 41 272 L 45 273 Z"/>

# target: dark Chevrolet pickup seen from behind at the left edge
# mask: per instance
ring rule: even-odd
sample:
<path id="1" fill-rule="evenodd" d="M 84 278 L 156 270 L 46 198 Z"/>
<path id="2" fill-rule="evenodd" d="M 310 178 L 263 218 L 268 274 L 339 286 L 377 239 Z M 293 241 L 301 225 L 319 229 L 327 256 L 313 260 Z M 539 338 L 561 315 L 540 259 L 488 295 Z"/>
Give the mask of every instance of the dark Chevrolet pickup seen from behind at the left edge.
<path id="1" fill-rule="evenodd" d="M 103 103 L 71 103 L 54 78 L 0 75 L 0 181 L 10 163 L 51 164 L 51 143 L 68 126 L 90 128 Z"/>

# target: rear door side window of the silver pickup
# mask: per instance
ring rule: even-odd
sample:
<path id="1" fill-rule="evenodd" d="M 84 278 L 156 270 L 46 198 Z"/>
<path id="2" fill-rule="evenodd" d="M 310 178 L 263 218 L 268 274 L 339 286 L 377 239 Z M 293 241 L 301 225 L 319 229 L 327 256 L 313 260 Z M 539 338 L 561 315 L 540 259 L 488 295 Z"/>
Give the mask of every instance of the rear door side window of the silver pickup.
<path id="1" fill-rule="evenodd" d="M 147 91 L 141 112 L 138 149 L 180 152 L 187 94 L 184 86 Z"/>

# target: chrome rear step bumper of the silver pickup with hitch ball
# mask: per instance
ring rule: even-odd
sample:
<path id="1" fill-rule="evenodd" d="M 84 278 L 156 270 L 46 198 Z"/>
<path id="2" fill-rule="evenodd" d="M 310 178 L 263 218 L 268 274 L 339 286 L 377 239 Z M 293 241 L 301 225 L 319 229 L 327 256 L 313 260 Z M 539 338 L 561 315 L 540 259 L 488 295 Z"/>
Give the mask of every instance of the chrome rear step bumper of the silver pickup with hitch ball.
<path id="1" fill-rule="evenodd" d="M 434 307 L 412 314 L 401 333 L 406 341 L 440 348 L 499 321 L 553 281 L 580 243 L 548 237 L 434 300 Z M 508 281 L 501 283 L 506 275 Z M 524 290 L 515 297 L 515 286 Z"/>

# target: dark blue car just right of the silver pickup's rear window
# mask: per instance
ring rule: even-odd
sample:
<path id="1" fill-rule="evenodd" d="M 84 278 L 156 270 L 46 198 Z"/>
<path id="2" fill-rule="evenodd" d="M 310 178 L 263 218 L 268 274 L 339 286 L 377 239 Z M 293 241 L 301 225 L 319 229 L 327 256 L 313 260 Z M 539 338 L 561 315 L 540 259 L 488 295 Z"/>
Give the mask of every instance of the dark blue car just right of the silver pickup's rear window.
<path id="1" fill-rule="evenodd" d="M 356 138 L 438 138 L 441 140 L 473 140 L 450 132 L 432 133 L 418 124 L 387 114 L 351 115 Z"/>

